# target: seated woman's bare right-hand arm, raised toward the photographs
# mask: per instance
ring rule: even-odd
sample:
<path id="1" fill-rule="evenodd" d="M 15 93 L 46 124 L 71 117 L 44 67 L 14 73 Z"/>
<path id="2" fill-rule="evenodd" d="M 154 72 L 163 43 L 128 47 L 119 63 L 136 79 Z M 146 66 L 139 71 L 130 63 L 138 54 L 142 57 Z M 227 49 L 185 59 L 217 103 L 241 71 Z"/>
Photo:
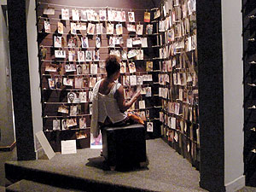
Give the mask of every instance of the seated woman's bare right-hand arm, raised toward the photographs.
<path id="1" fill-rule="evenodd" d="M 134 96 L 131 97 L 129 102 L 125 100 L 124 87 L 121 85 L 119 89 L 116 91 L 115 99 L 118 102 L 119 109 L 122 113 L 124 113 L 128 108 L 131 108 L 133 102 L 137 101 L 137 98 L 141 95 L 140 91 L 137 91 Z"/>

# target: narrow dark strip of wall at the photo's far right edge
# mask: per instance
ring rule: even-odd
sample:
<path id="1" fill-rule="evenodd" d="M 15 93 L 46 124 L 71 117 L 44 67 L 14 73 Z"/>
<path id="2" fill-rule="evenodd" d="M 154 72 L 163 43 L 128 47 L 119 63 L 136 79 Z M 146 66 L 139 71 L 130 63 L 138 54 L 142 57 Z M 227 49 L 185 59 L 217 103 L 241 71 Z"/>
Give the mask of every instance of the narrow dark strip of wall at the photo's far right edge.
<path id="1" fill-rule="evenodd" d="M 256 3 L 243 1 L 243 62 L 244 62 L 244 163 L 246 184 L 256 186 Z"/>

